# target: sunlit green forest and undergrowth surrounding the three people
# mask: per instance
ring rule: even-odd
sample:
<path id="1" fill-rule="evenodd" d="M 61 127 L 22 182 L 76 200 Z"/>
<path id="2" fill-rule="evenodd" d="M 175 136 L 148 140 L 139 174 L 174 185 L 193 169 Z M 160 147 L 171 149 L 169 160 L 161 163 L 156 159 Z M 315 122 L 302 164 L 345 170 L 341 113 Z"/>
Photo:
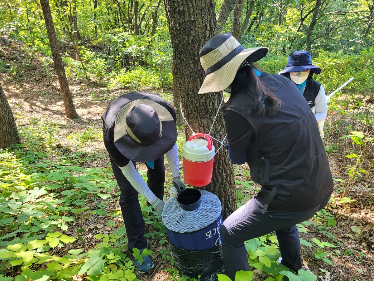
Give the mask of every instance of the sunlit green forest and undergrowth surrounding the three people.
<path id="1" fill-rule="evenodd" d="M 0 1 L 0 82 L 21 138 L 0 150 L 0 278 L 189 279 L 173 268 L 165 227 L 141 196 L 157 268 L 145 277 L 135 274 L 132 261 L 139 257 L 126 251 L 119 190 L 102 145 L 100 115 L 121 94 L 154 91 L 180 108 L 173 79 L 178 54 L 163 1 L 49 5 L 81 118 L 64 117 L 40 2 Z M 258 63 L 265 71 L 278 73 L 289 53 L 307 49 L 322 69 L 314 78 L 326 93 L 355 78 L 335 95 L 325 125 L 332 200 L 298 225 L 303 268 L 313 274 L 289 280 L 374 280 L 374 1 L 218 0 L 215 8 L 218 33 L 232 33 L 246 48 L 269 48 Z M 180 112 L 178 118 L 183 127 Z M 179 130 L 180 151 L 184 141 Z M 145 166 L 137 168 L 145 177 Z M 248 170 L 234 165 L 238 206 L 258 191 Z M 279 251 L 273 235 L 246 245 L 253 280 L 285 280 L 274 269 Z"/>

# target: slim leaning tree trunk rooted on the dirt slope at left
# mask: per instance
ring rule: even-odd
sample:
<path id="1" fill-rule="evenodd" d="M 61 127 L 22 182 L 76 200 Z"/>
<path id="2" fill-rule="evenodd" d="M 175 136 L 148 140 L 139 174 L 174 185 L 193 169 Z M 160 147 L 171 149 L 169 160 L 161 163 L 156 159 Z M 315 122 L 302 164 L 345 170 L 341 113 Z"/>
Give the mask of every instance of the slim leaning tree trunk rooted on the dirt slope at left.
<path id="1" fill-rule="evenodd" d="M 62 99 L 64 100 L 66 116 L 71 119 L 79 118 L 77 114 L 73 99 L 71 97 L 68 80 L 66 79 L 66 73 L 64 68 L 64 63 L 62 62 L 60 50 L 58 47 L 58 42 L 56 38 L 55 27 L 53 25 L 52 15 L 50 13 L 49 1 L 40 0 L 40 5 L 42 6 L 44 20 L 46 24 L 50 50 L 53 57 L 53 65 L 55 66 L 56 74 L 58 77 L 58 82 L 60 83 Z"/>

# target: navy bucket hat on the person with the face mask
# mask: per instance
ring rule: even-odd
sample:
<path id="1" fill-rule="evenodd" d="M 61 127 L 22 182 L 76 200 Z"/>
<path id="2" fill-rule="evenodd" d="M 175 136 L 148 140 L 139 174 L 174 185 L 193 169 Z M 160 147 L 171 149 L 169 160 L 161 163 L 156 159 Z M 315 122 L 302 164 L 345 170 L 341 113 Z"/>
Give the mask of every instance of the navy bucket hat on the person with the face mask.
<path id="1" fill-rule="evenodd" d="M 311 72 L 316 74 L 321 73 L 321 69 L 318 66 L 312 64 L 312 56 L 308 51 L 294 51 L 288 55 L 287 65 L 278 74 L 287 72 L 299 72 L 310 69 Z"/>

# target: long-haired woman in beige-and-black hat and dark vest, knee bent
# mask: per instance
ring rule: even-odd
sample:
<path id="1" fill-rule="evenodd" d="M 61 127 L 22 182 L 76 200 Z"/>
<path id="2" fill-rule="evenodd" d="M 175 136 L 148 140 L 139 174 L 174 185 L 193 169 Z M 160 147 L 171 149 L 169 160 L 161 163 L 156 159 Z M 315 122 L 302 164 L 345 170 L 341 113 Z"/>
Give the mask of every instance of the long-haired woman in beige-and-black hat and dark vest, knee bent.
<path id="1" fill-rule="evenodd" d="M 282 264 L 301 269 L 295 224 L 328 203 L 332 177 L 318 125 L 291 80 L 253 66 L 267 48 L 245 49 L 231 34 L 210 39 L 199 57 L 205 80 L 199 93 L 226 91 L 224 121 L 230 159 L 248 163 L 261 185 L 257 196 L 233 212 L 221 226 L 226 274 L 248 271 L 244 242 L 276 232 Z"/>

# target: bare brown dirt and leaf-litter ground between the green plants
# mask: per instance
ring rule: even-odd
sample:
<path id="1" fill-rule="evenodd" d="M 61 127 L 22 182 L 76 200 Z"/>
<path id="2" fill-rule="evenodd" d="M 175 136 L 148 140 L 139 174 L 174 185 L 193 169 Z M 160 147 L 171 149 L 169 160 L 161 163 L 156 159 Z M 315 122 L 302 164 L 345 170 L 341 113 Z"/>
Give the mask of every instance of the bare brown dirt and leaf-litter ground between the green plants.
<path id="1" fill-rule="evenodd" d="M 119 89 L 108 91 L 104 86 L 98 85 L 93 81 L 78 81 L 70 79 L 69 85 L 73 94 L 74 105 L 80 116 L 78 120 L 70 120 L 64 115 L 64 106 L 61 93 L 59 91 L 58 79 L 53 70 L 52 61 L 41 54 L 26 54 L 21 60 L 18 57 L 27 53 L 25 47 L 21 43 L 8 43 L 7 46 L 1 46 L 0 60 L 9 61 L 18 64 L 22 73 L 12 75 L 9 73 L 0 73 L 0 83 L 9 99 L 9 103 L 13 109 L 18 126 L 28 126 L 29 120 L 36 118 L 37 120 L 51 121 L 57 124 L 63 124 L 60 129 L 59 143 L 62 146 L 70 147 L 72 151 L 80 149 L 74 147 L 72 142 L 66 137 L 71 134 L 85 132 L 88 128 L 100 129 L 102 126 L 101 114 L 107 108 L 109 102 L 128 90 Z M 30 51 L 31 52 L 31 51 Z M 32 59 L 27 59 L 27 57 Z M 16 59 L 14 59 L 16 57 Z M 27 61 L 26 66 L 22 66 Z M 328 140 L 327 140 L 328 141 Z M 58 143 L 56 143 L 58 145 Z M 102 141 L 92 141 L 85 145 L 84 150 L 90 152 L 103 152 L 103 156 L 95 163 L 87 161 L 86 166 L 108 167 L 109 159 L 105 153 Z M 334 178 L 344 178 L 345 166 L 343 161 L 337 157 L 329 157 L 329 163 Z M 145 169 L 145 167 L 143 167 Z M 249 167 L 244 164 L 235 165 L 236 179 L 239 181 L 248 180 L 245 171 Z M 374 251 L 373 241 L 368 239 L 374 236 L 374 206 L 373 199 L 360 196 L 360 187 L 357 187 L 350 196 L 357 200 L 352 203 L 339 203 L 340 194 L 337 193 L 341 183 L 334 181 L 335 192 L 333 196 L 335 200 L 329 204 L 327 211 L 332 214 L 336 221 L 336 227 L 329 228 L 328 232 L 334 235 L 336 241 L 341 242 L 341 246 L 337 248 L 329 248 L 330 259 L 334 266 L 330 266 L 325 262 L 315 258 L 316 249 L 301 245 L 301 255 L 303 268 L 310 269 L 314 274 L 318 275 L 318 280 L 322 281 L 350 281 L 350 280 L 374 280 Z M 258 186 L 252 185 L 252 189 L 243 189 L 241 185 L 237 186 L 240 192 L 247 196 L 247 200 L 254 195 L 259 189 Z M 362 194 L 361 194 L 362 195 Z M 245 199 L 243 199 L 245 201 Z M 245 202 L 242 203 L 245 203 Z M 113 209 L 119 209 L 118 202 Z M 109 218 L 108 218 L 109 219 Z M 116 224 L 122 223 L 121 218 L 115 219 Z M 85 231 L 85 247 L 89 244 L 95 244 L 93 235 L 96 231 L 102 232 L 101 229 L 105 222 L 93 220 L 89 224 L 79 221 L 86 227 Z M 99 225 L 99 227 L 97 226 Z M 321 225 L 321 224 L 320 224 Z M 100 227 L 101 226 L 101 227 Z M 361 234 L 356 236 L 352 226 L 357 226 L 361 230 Z M 82 235 L 83 236 L 83 235 Z M 312 226 L 307 227 L 307 233 L 300 233 L 300 237 L 307 241 L 312 238 L 318 238 L 321 242 L 331 242 L 325 233 Z M 150 241 L 152 242 L 152 241 Z M 153 243 L 153 242 L 152 242 Z M 83 246 L 83 245 L 82 245 Z M 67 250 L 67 249 L 65 249 Z M 324 249 L 326 250 L 326 249 Z M 164 269 L 170 268 L 167 263 L 158 263 L 160 257 L 156 257 L 156 268 L 150 273 L 139 276 L 142 280 L 164 281 L 169 280 L 170 274 Z M 321 270 L 322 269 L 322 270 Z M 258 277 L 256 280 L 259 280 Z"/>

